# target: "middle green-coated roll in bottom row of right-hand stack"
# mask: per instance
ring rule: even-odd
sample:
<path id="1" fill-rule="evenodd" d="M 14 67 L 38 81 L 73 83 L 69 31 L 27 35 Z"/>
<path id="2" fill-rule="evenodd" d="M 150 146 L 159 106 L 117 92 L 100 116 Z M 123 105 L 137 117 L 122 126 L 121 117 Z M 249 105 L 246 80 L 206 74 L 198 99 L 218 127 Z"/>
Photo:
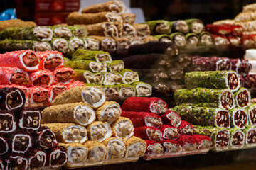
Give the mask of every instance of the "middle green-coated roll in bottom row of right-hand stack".
<path id="1" fill-rule="evenodd" d="M 230 128 L 230 146 L 233 148 L 242 147 L 245 144 L 245 132 L 238 128 Z"/>

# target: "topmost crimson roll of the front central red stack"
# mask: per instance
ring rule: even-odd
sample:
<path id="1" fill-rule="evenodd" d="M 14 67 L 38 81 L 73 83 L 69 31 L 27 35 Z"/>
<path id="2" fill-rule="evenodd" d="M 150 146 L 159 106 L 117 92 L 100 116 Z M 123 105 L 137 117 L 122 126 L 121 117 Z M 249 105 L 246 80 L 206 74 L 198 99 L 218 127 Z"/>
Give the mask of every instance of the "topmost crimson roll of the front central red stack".
<path id="1" fill-rule="evenodd" d="M 167 111 L 167 104 L 161 98 L 146 98 L 146 97 L 129 97 L 123 105 L 124 111 L 145 111 L 152 113 L 165 113 Z"/>

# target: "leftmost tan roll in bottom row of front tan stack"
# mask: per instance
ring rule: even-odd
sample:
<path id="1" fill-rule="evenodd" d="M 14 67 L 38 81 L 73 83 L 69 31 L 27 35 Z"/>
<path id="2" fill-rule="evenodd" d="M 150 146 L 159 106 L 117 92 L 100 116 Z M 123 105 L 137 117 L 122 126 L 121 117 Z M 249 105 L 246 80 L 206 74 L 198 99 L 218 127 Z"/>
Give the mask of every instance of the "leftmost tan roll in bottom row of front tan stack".
<path id="1" fill-rule="evenodd" d="M 60 143 L 60 147 L 65 147 L 68 155 L 68 164 L 85 163 L 87 161 L 88 149 L 80 143 Z"/>

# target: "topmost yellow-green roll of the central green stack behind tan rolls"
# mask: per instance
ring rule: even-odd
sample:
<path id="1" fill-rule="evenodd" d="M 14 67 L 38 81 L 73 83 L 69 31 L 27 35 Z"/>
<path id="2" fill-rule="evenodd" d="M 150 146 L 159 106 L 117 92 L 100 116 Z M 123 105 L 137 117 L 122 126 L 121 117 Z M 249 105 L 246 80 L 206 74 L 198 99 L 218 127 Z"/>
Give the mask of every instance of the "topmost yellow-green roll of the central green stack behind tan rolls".
<path id="1" fill-rule="evenodd" d="M 78 49 L 74 52 L 72 60 L 93 60 L 96 62 L 112 62 L 110 53 Z"/>

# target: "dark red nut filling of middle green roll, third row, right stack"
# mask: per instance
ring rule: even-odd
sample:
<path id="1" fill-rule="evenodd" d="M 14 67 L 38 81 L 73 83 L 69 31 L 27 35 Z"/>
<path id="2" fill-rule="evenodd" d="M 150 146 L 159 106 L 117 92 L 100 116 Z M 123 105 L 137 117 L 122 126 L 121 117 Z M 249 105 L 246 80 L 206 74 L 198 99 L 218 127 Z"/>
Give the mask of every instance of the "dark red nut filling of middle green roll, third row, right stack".
<path id="1" fill-rule="evenodd" d="M 245 125 L 247 125 L 247 113 L 245 113 L 244 110 L 238 109 L 235 111 L 235 114 L 233 115 L 233 123 L 238 128 L 245 128 Z"/>

